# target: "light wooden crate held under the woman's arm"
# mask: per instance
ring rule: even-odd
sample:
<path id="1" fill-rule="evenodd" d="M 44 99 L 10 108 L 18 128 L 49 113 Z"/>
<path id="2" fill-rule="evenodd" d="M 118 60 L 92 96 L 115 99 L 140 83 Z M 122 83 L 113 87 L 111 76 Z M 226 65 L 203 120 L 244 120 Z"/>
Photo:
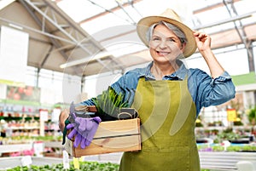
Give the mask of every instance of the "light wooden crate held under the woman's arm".
<path id="1" fill-rule="evenodd" d="M 141 150 L 139 118 L 108 121 L 99 124 L 91 144 L 84 149 L 73 147 L 73 141 L 66 138 L 65 149 L 73 157 L 82 157 L 119 151 Z"/>

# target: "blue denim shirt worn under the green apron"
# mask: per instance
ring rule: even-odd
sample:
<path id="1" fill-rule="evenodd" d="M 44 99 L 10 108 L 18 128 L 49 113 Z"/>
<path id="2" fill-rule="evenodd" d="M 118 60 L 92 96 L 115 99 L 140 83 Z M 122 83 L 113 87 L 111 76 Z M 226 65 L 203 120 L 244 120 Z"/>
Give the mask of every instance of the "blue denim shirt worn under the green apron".
<path id="1" fill-rule="evenodd" d="M 187 69 L 179 60 L 180 68 L 171 75 L 165 76 L 163 80 L 183 80 L 188 76 L 188 88 L 196 106 L 196 115 L 201 111 L 202 107 L 210 105 L 220 105 L 235 97 L 235 86 L 231 81 L 231 77 L 227 71 L 217 78 L 210 77 L 207 72 L 200 69 Z M 153 65 L 151 62 L 144 68 L 137 68 L 127 71 L 125 75 L 119 78 L 111 87 L 116 93 L 125 95 L 125 100 L 131 105 L 134 99 L 137 83 L 140 77 L 145 77 L 146 80 L 155 80 L 150 68 Z M 82 105 L 94 105 L 92 100 L 81 102 Z"/>

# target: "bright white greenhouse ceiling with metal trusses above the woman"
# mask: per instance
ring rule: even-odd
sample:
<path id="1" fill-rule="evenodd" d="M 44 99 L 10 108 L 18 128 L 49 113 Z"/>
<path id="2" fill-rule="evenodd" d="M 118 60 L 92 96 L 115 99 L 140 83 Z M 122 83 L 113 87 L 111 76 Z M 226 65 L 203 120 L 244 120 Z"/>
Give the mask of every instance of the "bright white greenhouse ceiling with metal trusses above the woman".
<path id="1" fill-rule="evenodd" d="M 29 33 L 28 66 L 90 76 L 150 60 L 136 23 L 166 8 L 211 34 L 212 48 L 243 43 L 249 49 L 256 39 L 255 6 L 255 0 L 2 0 L 0 26 Z"/>

